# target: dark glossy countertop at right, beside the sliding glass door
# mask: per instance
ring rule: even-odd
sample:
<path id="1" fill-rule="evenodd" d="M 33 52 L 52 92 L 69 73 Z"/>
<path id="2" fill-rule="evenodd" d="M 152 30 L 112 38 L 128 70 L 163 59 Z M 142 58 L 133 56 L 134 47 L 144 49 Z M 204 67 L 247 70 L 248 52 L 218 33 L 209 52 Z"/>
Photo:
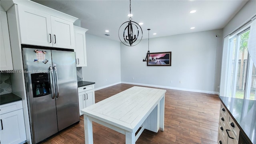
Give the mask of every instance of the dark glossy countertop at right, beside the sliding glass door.
<path id="1" fill-rule="evenodd" d="M 220 96 L 245 138 L 256 144 L 256 100 Z"/>

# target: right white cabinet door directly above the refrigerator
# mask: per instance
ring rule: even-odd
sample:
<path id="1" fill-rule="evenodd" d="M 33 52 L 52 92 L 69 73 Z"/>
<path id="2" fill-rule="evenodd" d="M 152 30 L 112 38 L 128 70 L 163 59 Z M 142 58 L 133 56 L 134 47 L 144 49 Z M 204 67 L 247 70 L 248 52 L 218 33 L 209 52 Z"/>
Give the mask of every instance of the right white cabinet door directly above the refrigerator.
<path id="1" fill-rule="evenodd" d="M 52 40 L 56 48 L 74 49 L 74 26 L 72 22 L 51 16 Z"/>

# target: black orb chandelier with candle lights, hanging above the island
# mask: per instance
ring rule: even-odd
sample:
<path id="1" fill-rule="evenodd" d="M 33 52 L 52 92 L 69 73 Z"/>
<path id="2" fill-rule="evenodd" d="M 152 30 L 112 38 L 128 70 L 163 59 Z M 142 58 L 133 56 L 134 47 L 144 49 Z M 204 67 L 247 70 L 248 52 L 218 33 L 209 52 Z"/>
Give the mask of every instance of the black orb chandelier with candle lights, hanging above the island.
<path id="1" fill-rule="evenodd" d="M 136 46 L 140 43 L 142 39 L 142 28 L 137 22 L 132 21 L 132 14 L 131 14 L 131 0 L 130 0 L 130 18 L 129 21 L 124 22 L 119 30 L 118 36 L 120 41 L 126 46 Z M 120 29 L 124 29 L 124 31 L 120 31 Z"/>

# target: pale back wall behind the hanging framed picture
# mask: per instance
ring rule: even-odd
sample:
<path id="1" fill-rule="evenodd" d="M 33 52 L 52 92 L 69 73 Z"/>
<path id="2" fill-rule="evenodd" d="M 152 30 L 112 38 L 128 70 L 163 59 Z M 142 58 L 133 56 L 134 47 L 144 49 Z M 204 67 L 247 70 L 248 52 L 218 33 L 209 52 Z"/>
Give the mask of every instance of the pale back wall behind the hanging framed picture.
<path id="1" fill-rule="evenodd" d="M 149 46 L 150 52 L 171 51 L 172 66 L 146 66 L 142 62 L 148 39 L 132 47 L 121 44 L 122 82 L 196 92 L 218 91 L 222 30 L 150 38 Z"/>

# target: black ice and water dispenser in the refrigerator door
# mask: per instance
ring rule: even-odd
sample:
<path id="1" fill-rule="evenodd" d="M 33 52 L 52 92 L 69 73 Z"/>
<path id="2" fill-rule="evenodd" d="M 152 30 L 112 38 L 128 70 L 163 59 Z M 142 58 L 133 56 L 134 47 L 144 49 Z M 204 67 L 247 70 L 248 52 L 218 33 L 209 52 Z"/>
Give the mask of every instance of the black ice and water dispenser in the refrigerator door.
<path id="1" fill-rule="evenodd" d="M 48 73 L 31 74 L 31 81 L 34 98 L 51 94 L 50 79 Z"/>

